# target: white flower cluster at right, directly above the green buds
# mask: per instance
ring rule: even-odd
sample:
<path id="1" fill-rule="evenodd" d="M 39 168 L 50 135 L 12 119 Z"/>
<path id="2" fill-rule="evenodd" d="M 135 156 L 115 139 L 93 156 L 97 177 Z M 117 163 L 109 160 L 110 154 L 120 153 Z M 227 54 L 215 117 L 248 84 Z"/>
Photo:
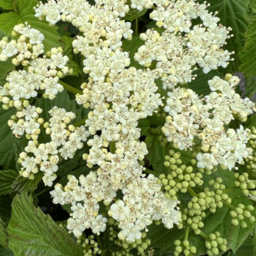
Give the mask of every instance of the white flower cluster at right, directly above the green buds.
<path id="1" fill-rule="evenodd" d="M 203 153 L 198 153 L 198 167 L 213 169 L 218 164 L 228 169 L 250 155 L 247 148 L 248 130 L 240 126 L 238 130 L 225 129 L 233 119 L 242 122 L 255 111 L 254 103 L 242 99 L 235 93 L 239 78 L 228 74 L 226 80 L 213 77 L 209 81 L 212 92 L 201 99 L 190 89 L 175 88 L 168 92 L 164 111 L 168 117 L 163 133 L 175 147 L 183 150 L 194 145 L 194 138 L 201 140 Z"/>

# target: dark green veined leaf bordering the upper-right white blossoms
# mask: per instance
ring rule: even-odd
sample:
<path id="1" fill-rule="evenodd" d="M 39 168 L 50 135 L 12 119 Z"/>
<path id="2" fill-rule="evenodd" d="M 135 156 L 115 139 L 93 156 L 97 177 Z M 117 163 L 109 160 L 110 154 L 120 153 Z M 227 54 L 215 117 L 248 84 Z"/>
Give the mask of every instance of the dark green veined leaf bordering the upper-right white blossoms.
<path id="1" fill-rule="evenodd" d="M 200 0 L 199 2 L 205 2 Z M 218 12 L 217 17 L 220 17 L 220 23 L 226 27 L 232 28 L 234 37 L 228 40 L 228 51 L 235 51 L 234 62 L 228 66 L 230 72 L 235 72 L 239 67 L 238 53 L 243 48 L 244 35 L 247 32 L 247 17 L 250 15 L 249 0 L 208 0 L 211 4 L 209 11 Z"/>

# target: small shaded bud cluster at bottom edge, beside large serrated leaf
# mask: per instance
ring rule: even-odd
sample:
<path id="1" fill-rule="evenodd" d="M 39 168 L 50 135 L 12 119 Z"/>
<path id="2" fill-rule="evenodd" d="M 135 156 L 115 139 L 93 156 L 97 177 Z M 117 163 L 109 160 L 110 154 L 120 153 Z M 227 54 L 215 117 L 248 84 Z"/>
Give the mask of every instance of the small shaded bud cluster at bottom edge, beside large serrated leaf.
<path id="1" fill-rule="evenodd" d="M 77 239 L 77 243 L 83 247 L 84 256 L 101 255 L 102 253 L 99 243 L 96 242 L 95 235 L 81 236 L 81 238 Z"/>

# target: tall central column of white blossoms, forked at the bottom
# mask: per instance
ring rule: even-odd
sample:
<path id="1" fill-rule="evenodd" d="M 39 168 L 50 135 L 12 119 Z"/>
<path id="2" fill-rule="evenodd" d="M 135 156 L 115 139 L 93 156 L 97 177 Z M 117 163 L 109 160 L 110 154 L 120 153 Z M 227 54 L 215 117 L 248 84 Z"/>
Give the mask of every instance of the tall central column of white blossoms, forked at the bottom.
<path id="1" fill-rule="evenodd" d="M 130 58 L 122 52 L 121 40 L 130 39 L 132 30 L 119 17 L 128 10 L 125 1 L 96 1 L 91 6 L 79 0 L 50 1 L 36 9 L 37 16 L 46 16 L 52 24 L 62 19 L 83 32 L 73 47 L 85 56 L 84 72 L 89 78 L 81 85 L 83 94 L 76 98 L 78 104 L 92 109 L 85 126 L 94 136 L 88 140 L 91 149 L 84 158 L 89 168 L 97 165 L 98 169 L 79 179 L 70 176 L 64 188 L 57 184 L 51 191 L 55 203 L 72 205 L 67 228 L 77 237 L 86 228 L 104 232 L 107 219 L 100 214 L 99 202 L 110 205 L 118 190 L 123 198 L 111 205 L 109 215 L 119 222 L 121 239 L 140 239 L 152 220 L 162 220 L 171 228 L 180 218 L 177 201 L 165 198 L 156 177 L 145 177 L 145 168 L 138 162 L 147 149 L 139 141 L 137 121 L 152 115 L 162 101 L 151 70 L 126 68 Z"/>

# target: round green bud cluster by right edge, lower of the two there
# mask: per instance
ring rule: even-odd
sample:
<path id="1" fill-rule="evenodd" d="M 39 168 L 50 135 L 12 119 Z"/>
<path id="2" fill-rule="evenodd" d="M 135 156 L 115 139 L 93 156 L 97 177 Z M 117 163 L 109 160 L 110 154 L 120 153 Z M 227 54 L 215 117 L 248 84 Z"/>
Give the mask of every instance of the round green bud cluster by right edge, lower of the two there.
<path id="1" fill-rule="evenodd" d="M 242 228 L 247 228 L 247 221 L 255 221 L 255 212 L 253 205 L 239 204 L 236 207 L 232 207 L 230 211 L 232 216 L 232 224 L 235 226 L 241 225 Z"/>

